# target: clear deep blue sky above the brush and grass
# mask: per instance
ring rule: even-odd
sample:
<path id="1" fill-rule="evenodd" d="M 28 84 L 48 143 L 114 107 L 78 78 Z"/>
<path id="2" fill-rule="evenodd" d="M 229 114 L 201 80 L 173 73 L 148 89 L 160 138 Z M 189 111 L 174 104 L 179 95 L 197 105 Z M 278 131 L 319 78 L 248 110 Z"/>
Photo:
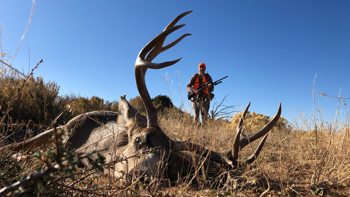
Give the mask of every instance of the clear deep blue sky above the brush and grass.
<path id="1" fill-rule="evenodd" d="M 30 0 L 0 0 L 2 52 L 14 55 L 31 6 Z M 193 12 L 177 23 L 186 26 L 165 43 L 192 36 L 153 61 L 182 57 L 180 62 L 147 71 L 151 97 L 169 96 L 161 79 L 168 73 L 175 106 L 181 105 L 182 90 L 190 109 L 186 85 L 201 62 L 213 80 L 228 75 L 215 87 L 214 101 L 230 94 L 226 105 L 245 107 L 251 101 L 250 111 L 270 117 L 280 102 L 288 120 L 300 110 L 312 114 L 313 95 L 307 89 L 313 89 L 316 73 L 316 91 L 338 96 L 342 88 L 341 96 L 350 97 L 348 0 L 36 0 L 12 65 L 28 72 L 43 59 L 35 75 L 57 82 L 61 94 L 134 98 L 139 95 L 134 64 L 140 49 L 189 10 Z M 326 121 L 334 120 L 337 99 L 315 95 L 315 102 Z M 344 116 L 346 106 L 340 107 Z"/>

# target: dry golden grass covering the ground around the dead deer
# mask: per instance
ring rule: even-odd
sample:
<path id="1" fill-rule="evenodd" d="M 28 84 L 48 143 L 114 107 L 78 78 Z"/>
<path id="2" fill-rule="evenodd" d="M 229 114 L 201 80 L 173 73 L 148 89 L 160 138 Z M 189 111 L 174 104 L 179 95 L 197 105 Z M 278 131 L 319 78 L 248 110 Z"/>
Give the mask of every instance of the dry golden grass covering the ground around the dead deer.
<path id="1" fill-rule="evenodd" d="M 229 123 L 223 120 L 209 121 L 207 125 L 195 130 L 192 117 L 176 108 L 165 108 L 159 114 L 159 125 L 173 140 L 184 141 L 191 137 L 191 142 L 220 152 L 230 148 L 235 135 L 235 129 L 228 128 Z M 350 195 L 349 125 L 337 125 L 332 131 L 326 129 L 327 126 L 319 126 L 322 129 L 317 130 L 317 151 L 315 130 L 307 129 L 310 128 L 309 125 L 312 123 L 305 120 L 302 125 L 294 125 L 299 130 L 293 132 L 277 129 L 270 131 L 258 158 L 271 184 L 267 195 Z M 252 145 L 256 146 L 256 143 Z M 247 146 L 241 151 L 240 157 L 244 160 L 251 153 L 252 150 Z M 3 153 L 1 155 L 4 157 Z M 206 162 L 202 158 L 194 155 L 191 157 L 194 161 L 192 173 L 175 179 L 166 175 L 146 181 L 129 179 L 125 186 L 118 178 L 104 177 L 85 167 L 77 167 L 75 171 L 53 173 L 51 179 L 45 180 L 51 181 L 49 188 L 44 187 L 45 190 L 42 190 L 36 185 L 37 189 L 34 191 L 42 195 L 61 196 L 259 196 L 267 189 L 266 179 L 256 161 L 237 174 L 229 173 L 213 164 L 203 165 Z M 4 163 L 5 160 L 1 159 Z M 38 166 L 45 166 L 42 161 L 33 158 L 19 162 L 19 165 L 16 164 L 18 169 L 12 171 L 16 174 L 15 179 L 35 173 Z M 8 182 L 2 180 L 2 186 L 6 181 Z"/>

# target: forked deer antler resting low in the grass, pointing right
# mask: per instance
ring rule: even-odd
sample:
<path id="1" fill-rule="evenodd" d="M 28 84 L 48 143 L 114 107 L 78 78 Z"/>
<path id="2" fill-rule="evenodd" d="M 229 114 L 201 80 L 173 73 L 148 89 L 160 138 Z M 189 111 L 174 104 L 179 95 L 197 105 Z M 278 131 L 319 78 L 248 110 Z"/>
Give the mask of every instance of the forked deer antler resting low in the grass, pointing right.
<path id="1" fill-rule="evenodd" d="M 249 142 L 253 142 L 259 138 L 261 138 L 262 136 L 264 136 L 262 138 L 262 141 L 259 143 L 258 147 L 255 149 L 254 154 L 252 154 L 247 160 L 245 160 L 244 163 L 246 164 L 250 164 L 253 161 L 255 161 L 255 158 L 259 156 L 261 150 L 262 150 L 262 146 L 264 145 L 267 136 L 268 136 L 268 132 L 271 130 L 271 128 L 277 123 L 278 119 L 280 118 L 280 114 L 281 114 L 281 104 L 279 106 L 279 109 L 277 111 L 277 114 L 275 115 L 275 117 L 269 122 L 267 123 L 261 130 L 259 130 L 258 132 L 245 136 L 242 133 L 242 127 L 243 127 L 243 123 L 244 123 L 244 118 L 245 115 L 248 111 L 248 108 L 250 106 L 250 102 L 247 105 L 247 107 L 245 108 L 245 111 L 242 114 L 241 120 L 237 125 L 237 134 L 235 139 L 233 140 L 233 145 L 232 148 L 230 150 L 228 150 L 226 153 L 219 153 L 219 152 L 215 152 L 215 151 L 210 151 L 209 149 L 202 147 L 198 144 L 194 144 L 194 143 L 189 143 L 189 142 L 175 142 L 172 151 L 182 151 L 182 150 L 187 150 L 187 151 L 194 151 L 195 153 L 202 155 L 203 157 L 207 157 L 211 160 L 211 161 L 215 161 L 218 163 L 221 163 L 223 165 L 229 165 L 230 167 L 238 167 L 241 164 L 238 162 L 238 155 L 239 155 L 239 151 L 244 148 Z M 248 141 L 249 138 L 249 141 Z M 254 157 L 255 155 L 255 157 Z"/>

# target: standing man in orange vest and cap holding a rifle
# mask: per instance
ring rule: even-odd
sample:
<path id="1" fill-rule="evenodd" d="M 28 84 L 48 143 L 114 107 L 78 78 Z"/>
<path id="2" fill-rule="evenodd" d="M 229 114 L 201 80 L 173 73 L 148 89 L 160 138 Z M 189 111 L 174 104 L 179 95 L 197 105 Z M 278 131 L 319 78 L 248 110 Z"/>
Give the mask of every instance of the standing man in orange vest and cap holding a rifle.
<path id="1" fill-rule="evenodd" d="M 198 90 L 198 87 L 212 82 L 212 79 L 208 73 L 205 73 L 207 66 L 204 63 L 200 63 L 198 66 L 198 73 L 194 74 L 187 84 L 186 89 L 192 93 L 195 92 L 196 96 L 191 99 L 191 106 L 193 109 L 193 124 L 199 125 L 199 112 L 202 116 L 202 123 L 205 124 L 208 120 L 208 111 L 210 107 L 210 92 L 214 91 L 214 86 L 209 84 L 207 89 Z M 193 88 L 192 88 L 193 86 Z"/>

